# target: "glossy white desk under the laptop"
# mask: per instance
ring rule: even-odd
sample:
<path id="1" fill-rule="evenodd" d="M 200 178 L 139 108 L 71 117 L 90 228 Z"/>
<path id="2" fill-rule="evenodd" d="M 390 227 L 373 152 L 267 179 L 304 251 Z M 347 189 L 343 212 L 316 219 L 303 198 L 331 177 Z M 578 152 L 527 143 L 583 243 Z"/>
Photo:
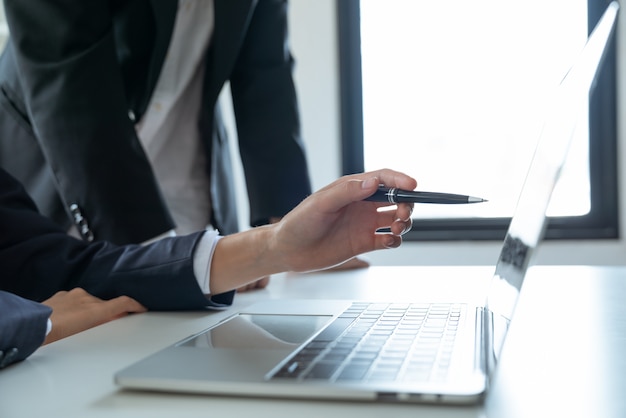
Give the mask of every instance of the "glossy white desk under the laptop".
<path id="1" fill-rule="evenodd" d="M 280 275 L 223 313 L 146 313 L 42 347 L 0 372 L 0 417 L 624 417 L 626 268 L 534 267 L 495 384 L 474 407 L 120 390 L 113 373 L 262 298 L 479 299 L 492 267 Z M 384 272 L 384 275 L 382 274 Z"/>

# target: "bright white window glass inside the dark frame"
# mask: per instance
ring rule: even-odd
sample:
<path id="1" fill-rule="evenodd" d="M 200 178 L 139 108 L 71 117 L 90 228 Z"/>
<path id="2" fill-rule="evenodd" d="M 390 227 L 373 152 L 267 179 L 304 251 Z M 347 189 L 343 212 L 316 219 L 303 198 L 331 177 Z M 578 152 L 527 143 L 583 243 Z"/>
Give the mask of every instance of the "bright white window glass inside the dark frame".
<path id="1" fill-rule="evenodd" d="M 489 203 L 420 205 L 417 218 L 510 217 L 544 106 L 587 39 L 586 0 L 362 0 L 365 169 Z M 590 209 L 588 121 L 550 216 Z"/>

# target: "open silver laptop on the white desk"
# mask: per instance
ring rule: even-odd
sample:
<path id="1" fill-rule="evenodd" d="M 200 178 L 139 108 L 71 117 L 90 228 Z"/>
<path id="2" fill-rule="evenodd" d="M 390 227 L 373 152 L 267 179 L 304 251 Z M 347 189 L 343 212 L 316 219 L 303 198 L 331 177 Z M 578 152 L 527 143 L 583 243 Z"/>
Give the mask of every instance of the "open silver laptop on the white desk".
<path id="1" fill-rule="evenodd" d="M 617 12 L 611 3 L 557 89 L 483 306 L 268 300 L 120 370 L 115 382 L 282 399 L 480 402 Z"/>

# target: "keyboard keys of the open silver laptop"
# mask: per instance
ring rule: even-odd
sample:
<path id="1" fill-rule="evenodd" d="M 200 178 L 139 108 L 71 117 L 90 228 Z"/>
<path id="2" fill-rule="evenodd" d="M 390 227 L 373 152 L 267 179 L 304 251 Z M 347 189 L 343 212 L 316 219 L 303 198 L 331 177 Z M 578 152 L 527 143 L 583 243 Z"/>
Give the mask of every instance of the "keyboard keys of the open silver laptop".
<path id="1" fill-rule="evenodd" d="M 353 303 L 272 379 L 443 381 L 463 304 Z"/>

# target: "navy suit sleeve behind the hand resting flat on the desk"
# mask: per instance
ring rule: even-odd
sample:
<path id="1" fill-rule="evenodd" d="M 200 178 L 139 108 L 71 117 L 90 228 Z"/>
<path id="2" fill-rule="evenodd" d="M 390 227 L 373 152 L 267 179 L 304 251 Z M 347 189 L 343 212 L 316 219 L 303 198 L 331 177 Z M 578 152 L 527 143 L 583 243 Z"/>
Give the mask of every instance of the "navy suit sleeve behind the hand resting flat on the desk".
<path id="1" fill-rule="evenodd" d="M 0 291 L 0 369 L 43 344 L 51 313 L 48 306 Z"/>

